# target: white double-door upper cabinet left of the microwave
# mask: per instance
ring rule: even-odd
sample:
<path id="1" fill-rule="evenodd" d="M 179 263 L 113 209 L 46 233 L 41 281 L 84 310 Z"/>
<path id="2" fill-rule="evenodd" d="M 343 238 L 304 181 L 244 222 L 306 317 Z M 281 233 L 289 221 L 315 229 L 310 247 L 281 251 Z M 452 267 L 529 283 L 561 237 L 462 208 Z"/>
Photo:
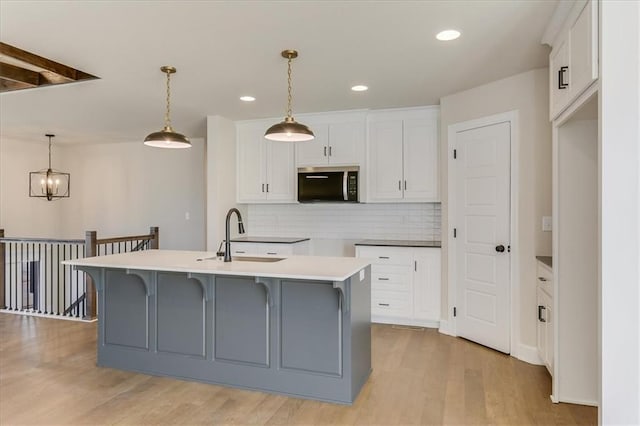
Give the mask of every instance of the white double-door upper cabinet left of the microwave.
<path id="1" fill-rule="evenodd" d="M 238 122 L 238 203 L 296 202 L 294 144 L 264 138 L 272 121 Z"/>

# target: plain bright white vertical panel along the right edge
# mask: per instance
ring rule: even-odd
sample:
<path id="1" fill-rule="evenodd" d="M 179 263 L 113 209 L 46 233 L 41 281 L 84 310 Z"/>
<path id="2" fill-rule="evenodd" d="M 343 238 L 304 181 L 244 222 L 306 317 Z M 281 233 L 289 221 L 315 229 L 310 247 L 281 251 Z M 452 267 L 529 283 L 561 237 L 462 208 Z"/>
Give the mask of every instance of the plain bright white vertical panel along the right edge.
<path id="1" fill-rule="evenodd" d="M 640 424 L 640 2 L 603 1 L 602 424 Z"/>

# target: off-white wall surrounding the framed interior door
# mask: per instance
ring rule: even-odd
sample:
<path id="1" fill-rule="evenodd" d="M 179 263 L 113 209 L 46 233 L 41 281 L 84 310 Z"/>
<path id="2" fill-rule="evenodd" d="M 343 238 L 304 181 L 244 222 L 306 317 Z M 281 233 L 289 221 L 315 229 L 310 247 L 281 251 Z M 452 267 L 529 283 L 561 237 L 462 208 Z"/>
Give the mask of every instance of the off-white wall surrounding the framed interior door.
<path id="1" fill-rule="evenodd" d="M 536 69 L 440 100 L 440 179 L 442 197 L 442 312 L 448 309 L 447 176 L 448 130 L 455 123 L 518 111 L 519 188 L 517 188 L 520 267 L 520 344 L 536 345 L 536 255 L 551 255 L 551 233 L 542 232 L 542 216 L 551 215 L 551 124 L 549 122 L 548 69 Z M 518 334 L 518 333 L 516 333 Z M 514 354 L 517 356 L 517 354 Z"/>

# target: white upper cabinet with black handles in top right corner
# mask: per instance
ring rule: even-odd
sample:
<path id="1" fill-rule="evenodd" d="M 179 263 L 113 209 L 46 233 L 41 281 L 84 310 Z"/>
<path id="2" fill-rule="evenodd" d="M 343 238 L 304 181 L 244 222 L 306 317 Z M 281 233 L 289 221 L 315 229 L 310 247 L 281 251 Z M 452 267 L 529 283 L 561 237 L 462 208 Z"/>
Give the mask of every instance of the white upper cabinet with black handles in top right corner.
<path id="1" fill-rule="evenodd" d="M 598 79 L 598 2 L 577 1 L 549 56 L 551 119 Z"/>

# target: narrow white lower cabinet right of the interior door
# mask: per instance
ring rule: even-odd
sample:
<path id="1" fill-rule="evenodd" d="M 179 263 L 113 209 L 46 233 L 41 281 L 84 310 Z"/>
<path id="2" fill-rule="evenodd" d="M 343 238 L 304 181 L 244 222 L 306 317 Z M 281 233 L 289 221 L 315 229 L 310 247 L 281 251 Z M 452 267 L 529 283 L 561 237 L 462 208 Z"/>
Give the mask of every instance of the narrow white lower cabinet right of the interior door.
<path id="1" fill-rule="evenodd" d="M 553 375 L 553 281 L 551 269 L 538 262 L 537 300 L 537 346 L 540 359 Z"/>

